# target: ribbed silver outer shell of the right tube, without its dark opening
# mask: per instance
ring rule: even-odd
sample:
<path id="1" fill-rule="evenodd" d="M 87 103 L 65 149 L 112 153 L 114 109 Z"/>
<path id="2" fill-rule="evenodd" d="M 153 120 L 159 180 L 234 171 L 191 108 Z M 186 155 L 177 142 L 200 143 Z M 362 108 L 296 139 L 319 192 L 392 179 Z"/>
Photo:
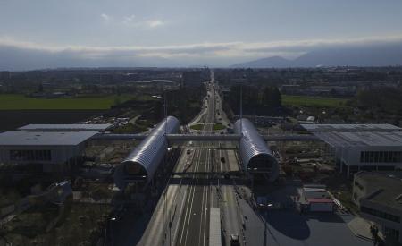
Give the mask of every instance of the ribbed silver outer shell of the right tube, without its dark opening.
<path id="1" fill-rule="evenodd" d="M 277 161 L 275 157 L 273 157 L 272 151 L 268 148 L 263 137 L 256 131 L 253 123 L 245 118 L 239 119 L 234 123 L 234 131 L 236 134 L 243 134 L 243 137 L 239 141 L 239 148 L 244 168 L 247 170 L 248 164 L 253 157 L 259 155 L 267 156 L 272 159 L 273 177 L 271 178 L 272 180 L 275 179 L 279 172 Z"/>

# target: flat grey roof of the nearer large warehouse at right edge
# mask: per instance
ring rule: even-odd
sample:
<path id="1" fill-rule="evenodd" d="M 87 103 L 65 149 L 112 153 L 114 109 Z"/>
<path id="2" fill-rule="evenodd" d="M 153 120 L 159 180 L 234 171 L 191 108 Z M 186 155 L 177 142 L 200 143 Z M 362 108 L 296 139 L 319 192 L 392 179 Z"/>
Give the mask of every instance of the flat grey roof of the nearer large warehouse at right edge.
<path id="1" fill-rule="evenodd" d="M 402 148 L 402 131 L 314 132 L 335 148 Z"/>

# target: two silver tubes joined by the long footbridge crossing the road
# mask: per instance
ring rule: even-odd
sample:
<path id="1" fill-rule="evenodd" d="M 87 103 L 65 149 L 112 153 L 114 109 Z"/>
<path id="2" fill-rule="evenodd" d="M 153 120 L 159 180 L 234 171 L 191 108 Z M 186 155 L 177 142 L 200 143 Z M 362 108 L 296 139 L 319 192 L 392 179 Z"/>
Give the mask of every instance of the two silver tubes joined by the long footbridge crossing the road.
<path id="1" fill-rule="evenodd" d="M 253 123 L 239 119 L 234 123 L 235 134 L 178 134 L 179 120 L 168 116 L 158 123 L 149 134 L 110 134 L 95 136 L 101 140 L 141 140 L 121 165 L 114 171 L 114 182 L 121 189 L 130 182 L 151 182 L 170 143 L 188 141 L 236 141 L 243 169 L 249 174 L 264 174 L 274 181 L 279 175 L 279 165 L 266 141 L 270 140 L 317 140 L 311 135 L 261 136 Z"/>

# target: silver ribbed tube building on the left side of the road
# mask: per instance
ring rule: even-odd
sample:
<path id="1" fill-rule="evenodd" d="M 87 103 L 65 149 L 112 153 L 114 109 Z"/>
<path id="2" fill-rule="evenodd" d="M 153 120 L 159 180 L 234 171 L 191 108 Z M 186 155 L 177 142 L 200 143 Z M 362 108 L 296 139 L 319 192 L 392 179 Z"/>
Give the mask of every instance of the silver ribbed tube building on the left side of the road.
<path id="1" fill-rule="evenodd" d="M 179 131 L 179 120 L 168 116 L 114 170 L 114 182 L 124 190 L 129 182 L 150 182 L 168 148 L 166 134 Z"/>

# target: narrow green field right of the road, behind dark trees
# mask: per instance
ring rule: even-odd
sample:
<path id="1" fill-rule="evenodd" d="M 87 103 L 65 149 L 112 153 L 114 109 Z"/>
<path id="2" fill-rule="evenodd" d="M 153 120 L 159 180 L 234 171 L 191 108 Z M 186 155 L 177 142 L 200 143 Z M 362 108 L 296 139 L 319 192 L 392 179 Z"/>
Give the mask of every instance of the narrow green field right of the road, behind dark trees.
<path id="1" fill-rule="evenodd" d="M 342 98 L 322 98 L 311 96 L 289 96 L 282 95 L 282 104 L 284 106 L 325 106 L 342 107 L 346 105 L 348 99 Z"/>

